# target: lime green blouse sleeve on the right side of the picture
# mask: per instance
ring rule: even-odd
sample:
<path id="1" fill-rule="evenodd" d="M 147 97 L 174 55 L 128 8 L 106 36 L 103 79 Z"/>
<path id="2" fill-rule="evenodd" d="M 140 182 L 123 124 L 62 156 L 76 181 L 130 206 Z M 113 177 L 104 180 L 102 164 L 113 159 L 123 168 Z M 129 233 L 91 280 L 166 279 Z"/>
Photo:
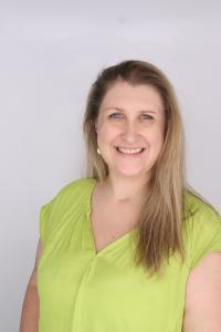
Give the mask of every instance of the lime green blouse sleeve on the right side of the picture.
<path id="1" fill-rule="evenodd" d="M 192 217 L 191 262 L 193 269 L 209 252 L 221 251 L 221 217 L 204 205 Z"/>

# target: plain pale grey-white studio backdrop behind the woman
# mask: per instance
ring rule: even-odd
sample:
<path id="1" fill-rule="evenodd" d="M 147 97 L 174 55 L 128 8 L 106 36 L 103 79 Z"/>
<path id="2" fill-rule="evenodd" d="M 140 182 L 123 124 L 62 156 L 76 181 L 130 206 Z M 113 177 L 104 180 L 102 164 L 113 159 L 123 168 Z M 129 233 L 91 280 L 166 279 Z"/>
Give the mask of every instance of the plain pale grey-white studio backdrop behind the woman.
<path id="1" fill-rule="evenodd" d="M 98 71 L 126 59 L 172 82 L 190 185 L 221 208 L 221 2 L 1 1 L 0 331 L 19 329 L 39 211 L 85 175 L 82 118 Z"/>

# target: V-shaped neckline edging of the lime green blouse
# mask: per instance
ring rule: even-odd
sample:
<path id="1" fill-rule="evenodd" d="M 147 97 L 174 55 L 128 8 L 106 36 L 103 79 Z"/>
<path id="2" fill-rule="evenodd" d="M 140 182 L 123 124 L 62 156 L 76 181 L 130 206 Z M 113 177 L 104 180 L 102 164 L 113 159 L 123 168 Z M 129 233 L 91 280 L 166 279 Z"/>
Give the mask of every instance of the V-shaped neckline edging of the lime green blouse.
<path id="1" fill-rule="evenodd" d="M 86 201 L 86 209 L 87 209 L 87 225 L 88 225 L 88 232 L 90 232 L 90 240 L 92 242 L 93 246 L 93 252 L 96 257 L 103 255 L 104 252 L 106 252 L 107 250 L 109 250 L 110 248 L 117 246 L 119 242 L 124 241 L 126 238 L 128 238 L 129 236 L 131 236 L 134 232 L 137 231 L 137 227 L 128 230 L 127 232 L 125 232 L 123 236 L 118 237 L 117 239 L 115 239 L 114 241 L 109 242 L 107 246 L 105 246 L 104 248 L 99 249 L 97 251 L 96 248 L 96 242 L 95 242 L 95 237 L 94 237 L 94 230 L 93 230 L 93 225 L 92 225 L 92 198 L 93 198 L 93 194 L 95 190 L 95 187 L 97 185 L 97 180 L 95 178 L 91 178 L 93 180 L 92 184 L 92 188 L 88 193 L 88 197 L 87 197 L 87 201 Z"/>

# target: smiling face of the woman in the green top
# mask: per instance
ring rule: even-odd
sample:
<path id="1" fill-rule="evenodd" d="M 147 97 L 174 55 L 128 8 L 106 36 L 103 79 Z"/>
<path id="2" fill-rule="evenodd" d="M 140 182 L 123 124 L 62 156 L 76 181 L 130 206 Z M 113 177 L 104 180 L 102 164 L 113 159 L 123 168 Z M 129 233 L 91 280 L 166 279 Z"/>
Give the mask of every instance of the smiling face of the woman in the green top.
<path id="1" fill-rule="evenodd" d="M 104 96 L 95 125 L 97 145 L 112 175 L 150 175 L 165 127 L 164 105 L 155 87 L 117 81 Z"/>

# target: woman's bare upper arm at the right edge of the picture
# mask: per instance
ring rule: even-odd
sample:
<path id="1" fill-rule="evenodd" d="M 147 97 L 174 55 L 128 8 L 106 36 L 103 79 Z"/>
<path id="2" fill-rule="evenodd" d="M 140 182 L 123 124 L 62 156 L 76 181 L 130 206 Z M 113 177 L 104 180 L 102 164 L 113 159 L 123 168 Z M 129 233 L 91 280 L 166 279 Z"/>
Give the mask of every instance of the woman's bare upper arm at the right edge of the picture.
<path id="1" fill-rule="evenodd" d="M 210 252 L 191 271 L 183 332 L 221 331 L 221 252 Z"/>

